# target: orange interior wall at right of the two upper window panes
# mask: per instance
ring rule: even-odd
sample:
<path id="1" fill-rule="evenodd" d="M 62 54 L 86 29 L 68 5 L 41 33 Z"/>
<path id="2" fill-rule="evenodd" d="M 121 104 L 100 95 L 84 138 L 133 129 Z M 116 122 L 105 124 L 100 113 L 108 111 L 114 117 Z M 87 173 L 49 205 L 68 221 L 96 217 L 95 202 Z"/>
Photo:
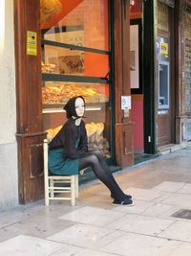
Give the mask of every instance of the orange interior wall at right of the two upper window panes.
<path id="1" fill-rule="evenodd" d="M 91 10 L 87 10 L 91 13 L 89 21 L 84 20 L 84 45 L 87 47 L 108 50 L 107 2 L 107 0 L 96 0 L 95 10 L 92 13 Z M 84 66 L 85 76 L 105 77 L 109 71 L 108 56 L 86 52 L 84 53 Z"/>

